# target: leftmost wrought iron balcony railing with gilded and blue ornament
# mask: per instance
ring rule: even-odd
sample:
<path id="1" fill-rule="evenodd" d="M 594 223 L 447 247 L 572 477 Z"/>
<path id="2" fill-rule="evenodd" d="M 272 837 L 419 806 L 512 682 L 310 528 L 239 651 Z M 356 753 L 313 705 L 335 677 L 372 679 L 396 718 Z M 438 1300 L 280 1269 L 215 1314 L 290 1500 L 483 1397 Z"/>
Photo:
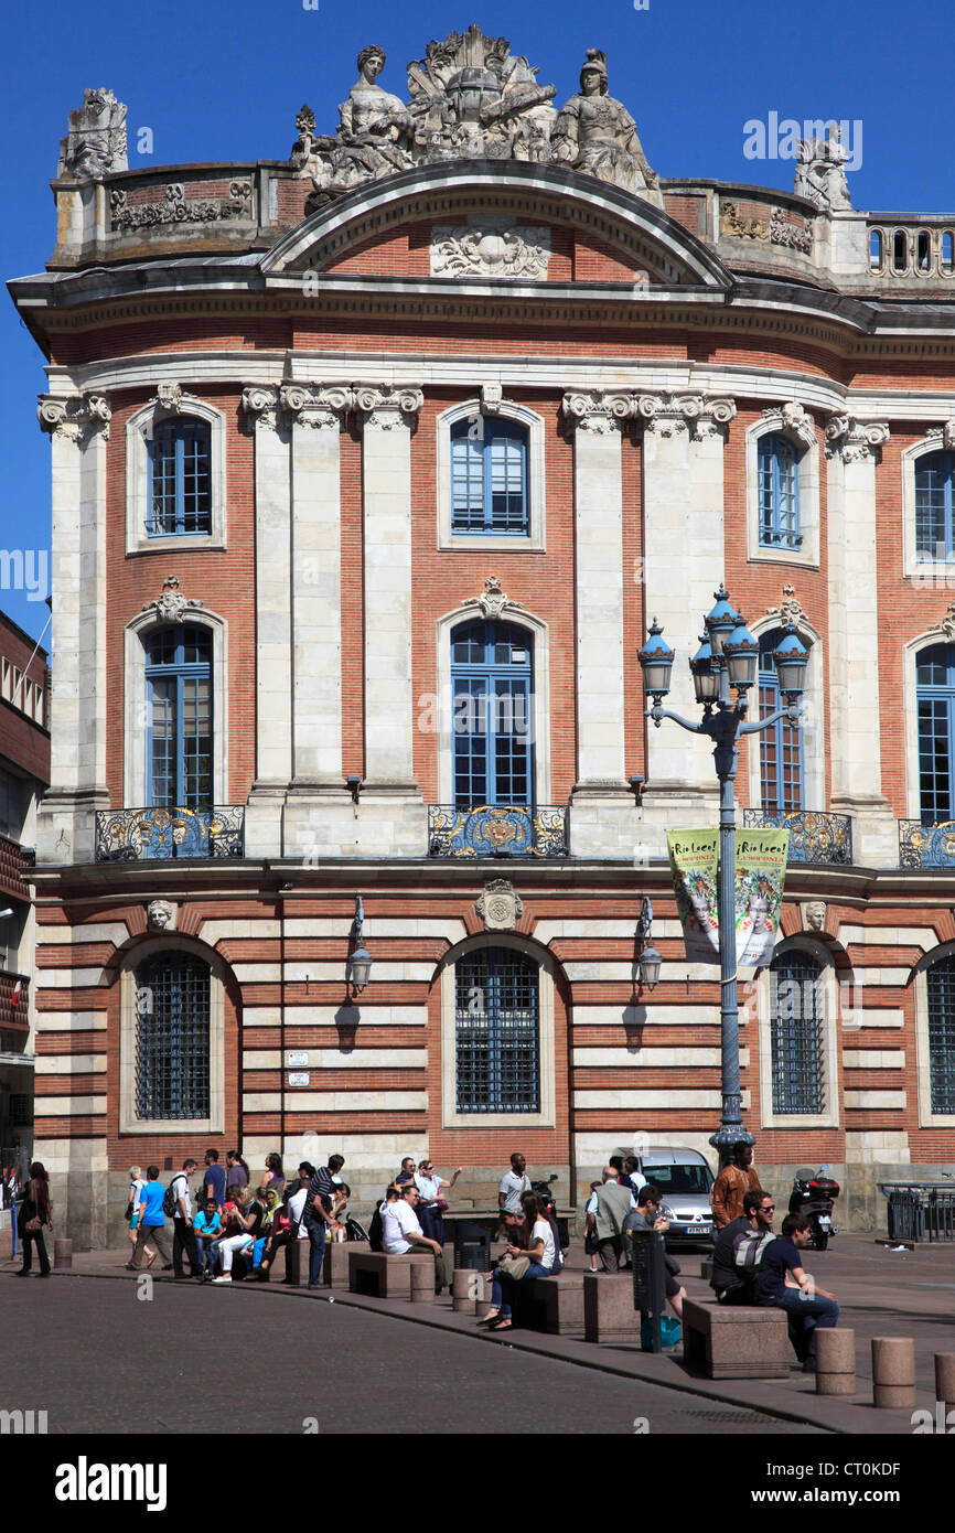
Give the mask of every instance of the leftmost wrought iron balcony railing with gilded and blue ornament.
<path id="1" fill-rule="evenodd" d="M 97 811 L 97 862 L 150 862 L 169 857 L 242 857 L 245 809 Z"/>

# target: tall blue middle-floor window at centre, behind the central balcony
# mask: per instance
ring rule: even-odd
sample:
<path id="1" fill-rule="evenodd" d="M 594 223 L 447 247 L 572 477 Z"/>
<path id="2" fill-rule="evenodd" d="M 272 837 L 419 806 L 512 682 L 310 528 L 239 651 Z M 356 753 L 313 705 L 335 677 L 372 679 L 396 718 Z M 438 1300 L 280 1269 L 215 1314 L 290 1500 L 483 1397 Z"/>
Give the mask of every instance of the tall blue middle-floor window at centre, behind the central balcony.
<path id="1" fill-rule="evenodd" d="M 530 635 L 507 622 L 464 622 L 451 635 L 454 803 L 533 805 Z"/>

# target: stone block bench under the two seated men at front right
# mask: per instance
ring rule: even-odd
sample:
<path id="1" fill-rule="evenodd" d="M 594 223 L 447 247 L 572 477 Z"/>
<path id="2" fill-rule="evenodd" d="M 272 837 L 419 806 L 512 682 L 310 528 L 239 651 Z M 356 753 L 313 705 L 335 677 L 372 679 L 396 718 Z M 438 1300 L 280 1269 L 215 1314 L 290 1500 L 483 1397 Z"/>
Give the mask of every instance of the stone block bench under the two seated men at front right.
<path id="1" fill-rule="evenodd" d="M 785 1309 L 684 1298 L 684 1361 L 707 1378 L 788 1378 Z"/>

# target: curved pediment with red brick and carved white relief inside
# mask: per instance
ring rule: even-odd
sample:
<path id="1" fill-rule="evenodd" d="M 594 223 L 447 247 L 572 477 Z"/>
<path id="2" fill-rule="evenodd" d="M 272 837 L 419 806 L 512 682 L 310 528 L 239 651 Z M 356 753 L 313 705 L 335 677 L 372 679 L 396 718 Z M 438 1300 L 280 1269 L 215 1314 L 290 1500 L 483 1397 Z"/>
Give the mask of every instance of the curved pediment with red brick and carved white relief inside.
<path id="1" fill-rule="evenodd" d="M 262 271 L 730 288 L 714 253 L 645 198 L 560 166 L 420 166 L 319 207 Z"/>

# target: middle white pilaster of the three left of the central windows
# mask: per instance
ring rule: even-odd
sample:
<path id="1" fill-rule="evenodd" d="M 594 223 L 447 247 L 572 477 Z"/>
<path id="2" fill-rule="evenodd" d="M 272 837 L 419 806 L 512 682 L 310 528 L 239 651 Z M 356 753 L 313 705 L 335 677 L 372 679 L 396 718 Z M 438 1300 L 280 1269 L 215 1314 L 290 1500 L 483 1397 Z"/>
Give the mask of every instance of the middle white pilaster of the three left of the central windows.
<path id="1" fill-rule="evenodd" d="M 342 777 L 342 414 L 345 388 L 290 386 L 293 793 L 345 791 Z"/>

